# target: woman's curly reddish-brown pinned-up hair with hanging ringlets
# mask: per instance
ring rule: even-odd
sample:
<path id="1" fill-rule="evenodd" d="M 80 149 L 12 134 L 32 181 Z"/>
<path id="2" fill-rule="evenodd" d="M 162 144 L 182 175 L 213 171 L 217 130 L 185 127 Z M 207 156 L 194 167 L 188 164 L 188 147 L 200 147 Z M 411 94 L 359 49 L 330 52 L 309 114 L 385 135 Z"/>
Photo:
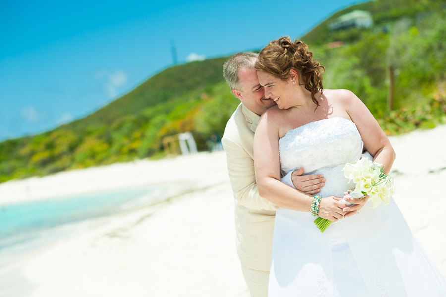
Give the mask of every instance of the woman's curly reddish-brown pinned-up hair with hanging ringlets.
<path id="1" fill-rule="evenodd" d="M 313 60 L 313 53 L 308 50 L 308 45 L 303 41 L 295 39 L 292 42 L 287 36 L 270 41 L 260 51 L 255 69 L 282 80 L 289 78 L 289 70 L 296 70 L 302 76 L 302 80 L 305 81 L 305 89 L 311 92 L 311 99 L 319 106 L 315 95 L 324 90 L 322 87 L 322 73 L 325 69 L 318 61 Z M 300 77 L 298 79 L 302 81 Z"/>

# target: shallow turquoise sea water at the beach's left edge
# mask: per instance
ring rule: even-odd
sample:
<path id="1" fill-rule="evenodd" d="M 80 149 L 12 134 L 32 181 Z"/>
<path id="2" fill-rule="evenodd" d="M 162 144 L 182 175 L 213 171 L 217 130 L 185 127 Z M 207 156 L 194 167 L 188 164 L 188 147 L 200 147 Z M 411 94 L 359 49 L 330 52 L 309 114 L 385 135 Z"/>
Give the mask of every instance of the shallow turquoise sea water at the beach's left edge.
<path id="1" fill-rule="evenodd" d="M 0 206 L 0 268 L 77 232 L 89 219 L 151 205 L 190 189 L 157 185 Z"/>

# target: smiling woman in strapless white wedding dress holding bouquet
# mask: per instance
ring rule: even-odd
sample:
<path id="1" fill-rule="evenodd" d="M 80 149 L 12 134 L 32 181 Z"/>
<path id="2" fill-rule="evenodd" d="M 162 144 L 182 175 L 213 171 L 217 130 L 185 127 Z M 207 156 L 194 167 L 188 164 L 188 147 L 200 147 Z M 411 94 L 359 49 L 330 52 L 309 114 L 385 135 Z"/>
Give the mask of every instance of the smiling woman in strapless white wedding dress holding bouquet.
<path id="1" fill-rule="evenodd" d="M 389 172 L 394 150 L 367 107 L 350 91 L 324 90 L 308 46 L 288 37 L 271 41 L 256 63 L 265 97 L 276 107 L 261 117 L 254 138 L 260 196 L 276 213 L 270 297 L 445 297 L 446 281 L 414 238 L 393 199 L 343 219 L 328 211 L 354 187 L 343 166 L 363 150 Z M 280 171 L 303 167 L 327 179 L 318 215 L 335 224 L 321 233 L 308 194 L 280 182 Z M 347 209 L 348 210 L 348 209 Z"/>

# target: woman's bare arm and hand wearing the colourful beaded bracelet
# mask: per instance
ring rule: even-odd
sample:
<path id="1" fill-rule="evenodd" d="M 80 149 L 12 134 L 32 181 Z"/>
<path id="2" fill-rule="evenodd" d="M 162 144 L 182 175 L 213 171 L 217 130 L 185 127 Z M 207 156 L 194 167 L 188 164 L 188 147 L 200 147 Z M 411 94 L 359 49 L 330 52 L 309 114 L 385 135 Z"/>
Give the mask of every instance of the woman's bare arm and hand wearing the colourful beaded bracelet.
<path id="1" fill-rule="evenodd" d="M 279 128 L 276 111 L 262 115 L 254 136 L 254 169 L 259 195 L 275 205 L 297 211 L 310 212 L 313 196 L 296 191 L 280 181 Z M 319 216 L 337 221 L 346 212 L 345 205 L 335 197 L 322 199 Z"/>

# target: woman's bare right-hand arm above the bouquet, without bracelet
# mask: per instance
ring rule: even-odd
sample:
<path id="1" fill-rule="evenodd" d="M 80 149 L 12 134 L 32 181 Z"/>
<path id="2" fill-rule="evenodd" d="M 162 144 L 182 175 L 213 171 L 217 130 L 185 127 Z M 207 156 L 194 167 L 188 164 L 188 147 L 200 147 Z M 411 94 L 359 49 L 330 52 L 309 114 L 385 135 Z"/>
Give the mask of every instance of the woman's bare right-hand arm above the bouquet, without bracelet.
<path id="1" fill-rule="evenodd" d="M 389 138 L 365 104 L 352 92 L 345 91 L 346 110 L 358 128 L 364 148 L 373 156 L 373 161 L 383 164 L 385 172 L 389 173 L 396 157 Z"/>

